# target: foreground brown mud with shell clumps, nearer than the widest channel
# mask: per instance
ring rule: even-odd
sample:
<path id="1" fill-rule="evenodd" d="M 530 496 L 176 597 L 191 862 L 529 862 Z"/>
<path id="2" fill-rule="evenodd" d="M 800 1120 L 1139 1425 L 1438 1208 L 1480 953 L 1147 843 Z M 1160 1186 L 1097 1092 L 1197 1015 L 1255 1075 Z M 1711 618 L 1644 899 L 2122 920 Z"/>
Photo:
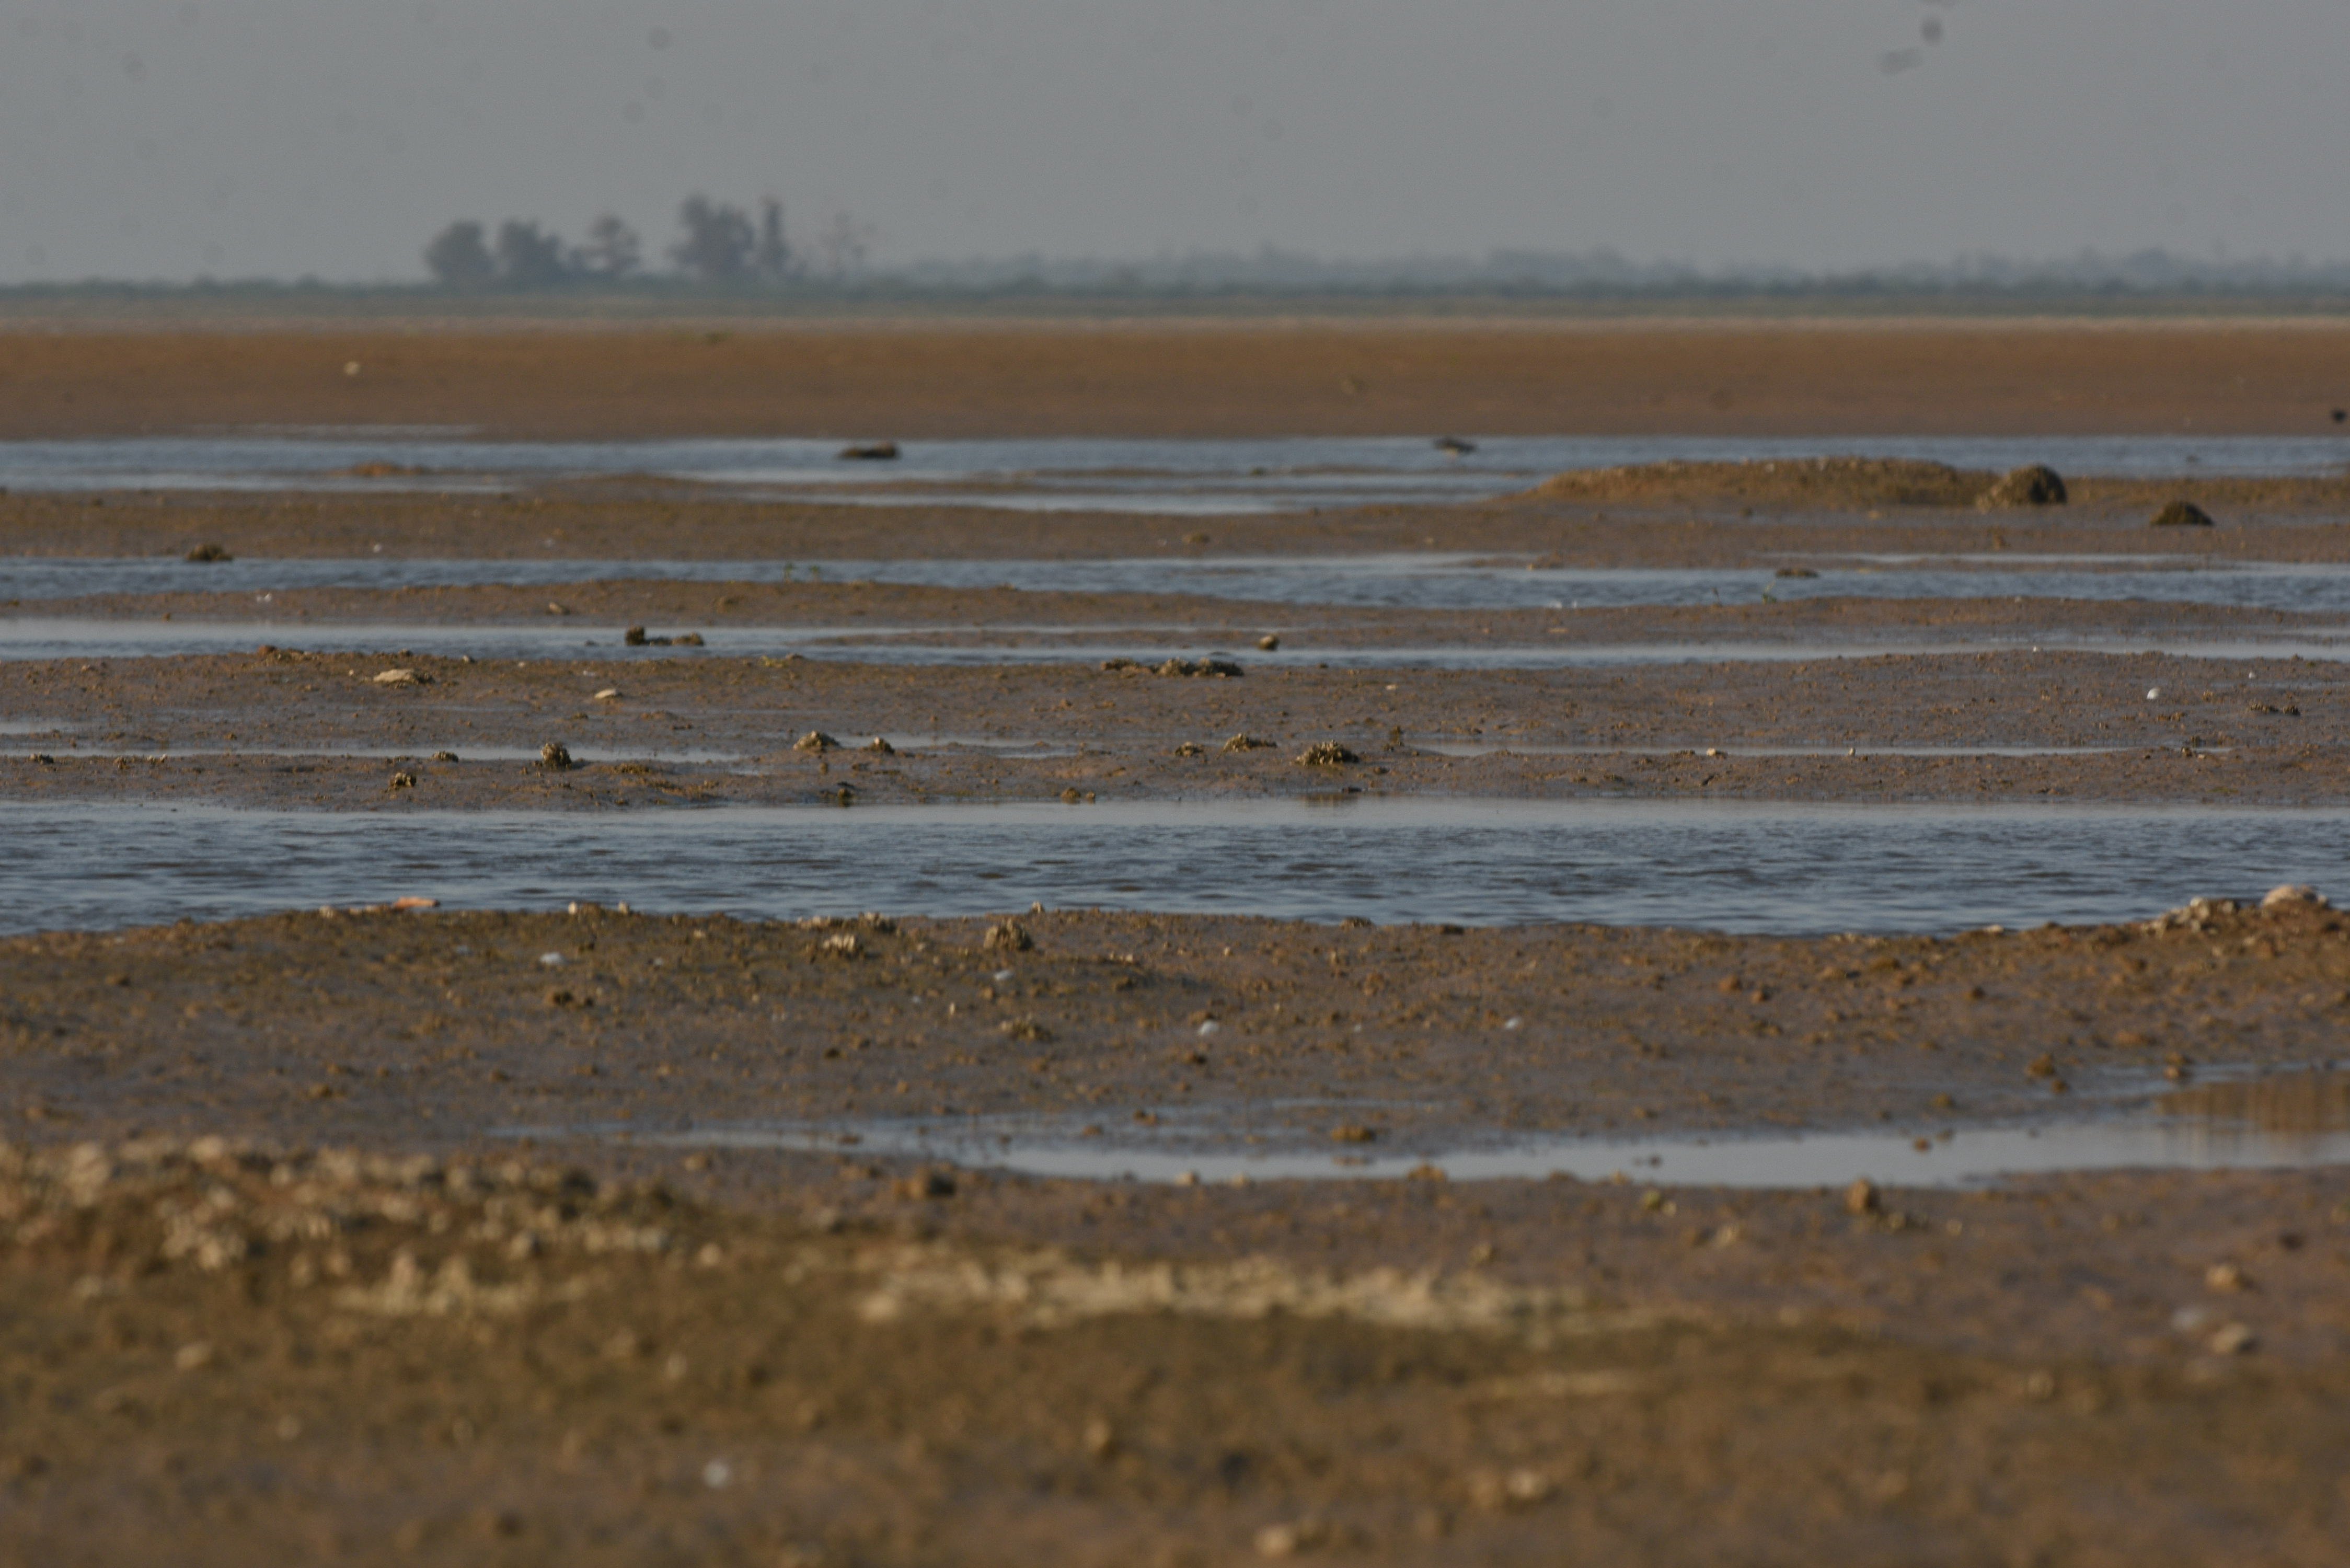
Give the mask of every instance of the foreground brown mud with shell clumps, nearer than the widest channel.
<path id="1" fill-rule="evenodd" d="M 338 912 L 0 945 L 40 1145 L 0 1152 L 7 1552 L 2334 1552 L 2338 1171 L 1210 1187 L 653 1138 L 952 1098 L 1121 1140 L 1161 1135 L 1137 1105 L 1290 1103 L 1264 1131 L 1335 1157 L 1410 1138 L 1379 1105 L 1490 1138 L 1504 1100 L 1680 1131 L 1882 1110 L 1932 1140 L 2054 1131 L 2164 1065 L 2183 1110 L 2315 1135 L 2343 1119 L 2301 1072 L 2350 978 L 2326 910 L 1958 943 L 1015 924 Z M 1497 1058 L 1502 1009 L 1532 1032 Z M 580 1131 L 512 1135 L 550 1124 Z M 2092 1523 L 2084 1493 L 2127 1507 Z"/>

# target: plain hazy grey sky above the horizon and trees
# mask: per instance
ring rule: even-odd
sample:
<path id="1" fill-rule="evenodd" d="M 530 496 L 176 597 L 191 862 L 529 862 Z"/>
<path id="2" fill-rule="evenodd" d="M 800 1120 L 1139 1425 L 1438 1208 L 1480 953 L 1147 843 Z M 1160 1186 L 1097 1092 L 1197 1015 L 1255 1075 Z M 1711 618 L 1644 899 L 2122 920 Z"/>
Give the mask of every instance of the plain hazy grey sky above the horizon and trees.
<path id="1" fill-rule="evenodd" d="M 0 0 L 0 280 L 416 277 L 691 190 L 877 263 L 2350 259 L 2350 5 Z"/>

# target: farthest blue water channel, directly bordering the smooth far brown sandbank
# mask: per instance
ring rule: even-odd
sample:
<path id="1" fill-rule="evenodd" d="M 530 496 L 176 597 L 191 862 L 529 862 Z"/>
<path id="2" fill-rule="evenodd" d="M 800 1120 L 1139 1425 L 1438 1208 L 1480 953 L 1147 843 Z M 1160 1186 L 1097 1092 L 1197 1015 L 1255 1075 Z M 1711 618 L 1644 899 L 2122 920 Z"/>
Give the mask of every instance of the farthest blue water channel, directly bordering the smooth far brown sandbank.
<path id="1" fill-rule="evenodd" d="M 886 433 L 884 433 L 886 435 Z M 1431 430 L 1429 437 L 1443 435 Z M 1455 433 L 1471 435 L 1471 433 Z M 1577 468 L 1659 461 L 1911 456 L 1958 468 L 2054 463 L 2068 475 L 2322 475 L 2343 437 L 1476 437 L 1466 456 L 1422 437 L 945 440 L 895 463 L 841 461 L 832 440 L 479 442 L 416 430 L 223 433 L 0 442 L 0 487 L 78 489 L 489 489 L 656 475 L 768 494 L 926 487 L 978 505 L 1262 512 L 1377 501 L 1469 501 Z M 362 463 L 409 473 L 357 477 Z"/>

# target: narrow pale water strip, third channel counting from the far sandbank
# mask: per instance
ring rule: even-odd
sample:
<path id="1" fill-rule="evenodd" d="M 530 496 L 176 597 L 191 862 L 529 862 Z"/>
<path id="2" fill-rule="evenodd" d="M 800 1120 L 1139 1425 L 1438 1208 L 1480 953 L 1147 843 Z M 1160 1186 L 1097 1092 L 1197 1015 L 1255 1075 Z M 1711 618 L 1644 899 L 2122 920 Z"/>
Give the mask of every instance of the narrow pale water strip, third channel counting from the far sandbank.
<path id="1" fill-rule="evenodd" d="M 1788 663 L 1812 658 L 1887 658 L 1927 654 L 2171 654 L 2178 658 L 2350 658 L 2350 628 L 2284 637 L 2197 637 L 2148 632 L 1981 632 L 1901 635 L 1861 632 L 1807 639 L 1683 639 L 1683 642 L 1560 642 L 1560 644 L 1386 644 L 1311 646 L 1290 642 L 1260 651 L 1236 642 L 1201 642 L 1184 628 L 987 628 L 938 625 L 721 625 L 700 632 L 703 646 L 627 646 L 618 625 L 576 618 L 515 625 L 336 623 L 336 621 L 99 621 L 0 616 L 0 658 L 172 658 L 183 654 L 249 654 L 261 644 L 315 654 L 442 658 L 576 658 L 620 663 L 642 658 L 825 658 L 874 665 L 1020 665 L 1100 663 L 1104 658 L 1236 658 L 1243 668 L 1340 670 L 1577 670 L 1676 663 Z M 663 628 L 665 630 L 665 628 Z M 2334 632 L 2345 639 L 2329 639 Z M 1246 637 L 1246 632 L 1243 632 Z"/>

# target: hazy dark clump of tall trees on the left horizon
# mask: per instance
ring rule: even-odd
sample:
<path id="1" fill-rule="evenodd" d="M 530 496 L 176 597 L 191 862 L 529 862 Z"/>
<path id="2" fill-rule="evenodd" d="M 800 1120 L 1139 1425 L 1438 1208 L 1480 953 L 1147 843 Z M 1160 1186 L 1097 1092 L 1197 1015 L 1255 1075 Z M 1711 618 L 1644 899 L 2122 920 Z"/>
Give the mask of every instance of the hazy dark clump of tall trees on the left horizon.
<path id="1" fill-rule="evenodd" d="M 684 277 L 707 284 L 792 282 L 808 275 L 801 256 L 783 237 L 783 202 L 759 202 L 752 219 L 743 207 L 696 193 L 677 209 L 677 242 L 670 263 Z M 865 270 L 872 230 L 839 214 L 815 240 L 815 268 L 837 277 Z M 461 219 L 425 244 L 425 268 L 449 289 L 550 289 L 571 282 L 620 282 L 644 273 L 644 242 L 613 214 L 588 226 L 580 244 L 524 219 L 505 219 L 491 235 Z"/>

